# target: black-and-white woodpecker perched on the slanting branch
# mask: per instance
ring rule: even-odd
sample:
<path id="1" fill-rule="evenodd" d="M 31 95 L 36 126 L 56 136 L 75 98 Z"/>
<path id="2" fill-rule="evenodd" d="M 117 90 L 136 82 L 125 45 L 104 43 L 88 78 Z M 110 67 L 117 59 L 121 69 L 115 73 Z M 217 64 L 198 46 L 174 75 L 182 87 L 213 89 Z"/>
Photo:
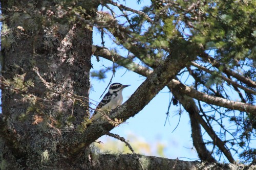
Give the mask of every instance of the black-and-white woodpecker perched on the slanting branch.
<path id="1" fill-rule="evenodd" d="M 103 99 L 97 106 L 92 118 L 98 119 L 99 117 L 101 117 L 99 110 L 112 110 L 115 109 L 117 106 L 120 106 L 123 102 L 122 91 L 125 87 L 128 86 L 130 85 L 122 85 L 121 83 L 113 83 L 112 85 L 110 85 L 109 91 L 104 95 Z"/>

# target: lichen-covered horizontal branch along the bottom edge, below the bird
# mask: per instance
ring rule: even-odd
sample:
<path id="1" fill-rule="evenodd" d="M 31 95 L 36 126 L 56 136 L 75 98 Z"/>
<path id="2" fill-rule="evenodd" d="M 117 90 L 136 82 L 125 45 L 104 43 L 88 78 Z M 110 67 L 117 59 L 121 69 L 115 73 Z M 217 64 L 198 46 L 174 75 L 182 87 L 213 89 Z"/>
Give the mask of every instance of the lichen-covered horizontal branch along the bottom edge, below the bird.
<path id="1" fill-rule="evenodd" d="M 103 170 L 144 170 L 144 169 L 154 169 L 154 170 L 199 170 L 199 169 L 229 169 L 237 170 L 242 169 L 245 165 L 242 164 L 217 164 L 217 163 L 206 163 L 198 161 L 181 161 L 178 159 L 166 159 L 155 156 L 143 156 L 136 154 L 105 154 L 99 155 L 99 158 L 95 160 L 98 162 L 92 169 Z M 256 165 L 252 165 L 251 169 L 256 168 Z"/>

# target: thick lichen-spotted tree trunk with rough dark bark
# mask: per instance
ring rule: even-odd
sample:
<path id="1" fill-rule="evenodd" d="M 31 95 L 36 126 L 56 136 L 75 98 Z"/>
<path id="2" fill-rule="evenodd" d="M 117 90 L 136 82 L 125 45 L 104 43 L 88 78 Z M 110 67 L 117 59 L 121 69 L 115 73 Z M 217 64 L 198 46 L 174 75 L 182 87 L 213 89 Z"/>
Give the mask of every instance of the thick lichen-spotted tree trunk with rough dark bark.
<path id="1" fill-rule="evenodd" d="M 76 167 L 88 154 L 61 153 L 72 143 L 61 137 L 60 126 L 65 133 L 65 127 L 76 127 L 88 114 L 84 99 L 90 89 L 92 29 L 55 22 L 51 16 L 58 12 L 51 8 L 58 4 L 52 2 L 2 1 L 1 5 L 7 16 L 2 76 L 11 85 L 2 90 L 0 146 L 5 163 L 1 169 Z M 74 95 L 85 97 L 83 105 Z"/>

